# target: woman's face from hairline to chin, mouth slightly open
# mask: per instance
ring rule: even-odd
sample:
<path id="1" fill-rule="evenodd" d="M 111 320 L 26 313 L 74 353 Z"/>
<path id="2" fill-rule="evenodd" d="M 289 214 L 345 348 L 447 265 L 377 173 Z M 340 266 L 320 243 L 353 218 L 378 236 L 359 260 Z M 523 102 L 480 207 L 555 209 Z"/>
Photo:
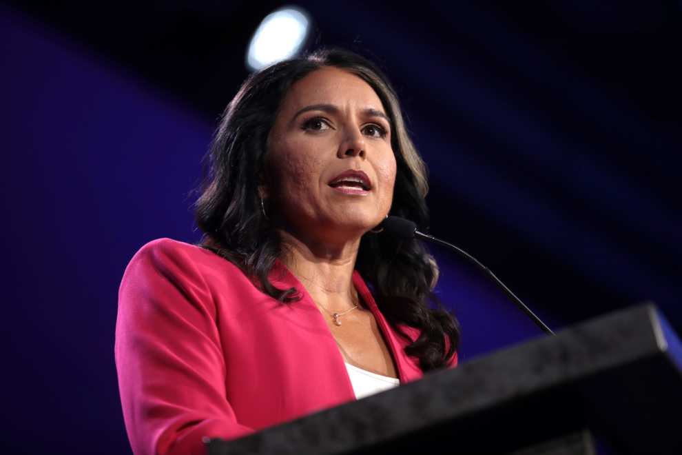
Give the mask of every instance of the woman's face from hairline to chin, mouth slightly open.
<path id="1" fill-rule="evenodd" d="M 293 84 L 283 100 L 270 133 L 265 196 L 285 230 L 344 241 L 389 212 L 395 168 L 391 125 L 377 94 L 355 74 L 324 67 Z"/>

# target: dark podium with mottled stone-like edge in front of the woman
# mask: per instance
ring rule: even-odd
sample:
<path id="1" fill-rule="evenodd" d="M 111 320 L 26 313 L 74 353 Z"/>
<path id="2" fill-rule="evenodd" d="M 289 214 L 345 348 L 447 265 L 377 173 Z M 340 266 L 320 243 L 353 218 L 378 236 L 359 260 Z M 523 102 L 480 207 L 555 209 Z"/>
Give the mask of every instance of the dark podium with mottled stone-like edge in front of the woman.
<path id="1" fill-rule="evenodd" d="M 654 305 L 640 305 L 207 449 L 682 454 L 682 345 Z"/>

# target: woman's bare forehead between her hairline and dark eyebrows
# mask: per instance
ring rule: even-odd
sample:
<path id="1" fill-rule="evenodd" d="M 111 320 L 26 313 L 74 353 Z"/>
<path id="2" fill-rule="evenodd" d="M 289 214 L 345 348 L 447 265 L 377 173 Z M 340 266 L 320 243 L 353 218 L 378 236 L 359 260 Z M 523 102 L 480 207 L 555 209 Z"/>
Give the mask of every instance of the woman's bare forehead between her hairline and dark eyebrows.
<path id="1" fill-rule="evenodd" d="M 282 110 L 299 110 L 315 104 L 374 108 L 386 113 L 381 100 L 368 83 L 355 74 L 333 67 L 320 68 L 291 85 L 282 103 Z"/>

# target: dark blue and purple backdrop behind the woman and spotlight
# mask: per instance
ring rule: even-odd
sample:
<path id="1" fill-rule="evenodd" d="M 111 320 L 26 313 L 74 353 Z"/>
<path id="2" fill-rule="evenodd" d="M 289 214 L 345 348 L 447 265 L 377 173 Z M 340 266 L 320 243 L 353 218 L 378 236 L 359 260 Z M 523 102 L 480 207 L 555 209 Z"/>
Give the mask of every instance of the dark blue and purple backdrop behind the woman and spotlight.
<path id="1" fill-rule="evenodd" d="M 147 241 L 200 238 L 200 160 L 282 4 L 0 3 L 3 447 L 130 453 L 118 283 Z M 552 328 L 652 299 L 682 331 L 679 2 L 299 4 L 310 48 L 355 45 L 389 72 L 431 170 L 433 234 Z M 434 253 L 462 361 L 540 336 Z"/>

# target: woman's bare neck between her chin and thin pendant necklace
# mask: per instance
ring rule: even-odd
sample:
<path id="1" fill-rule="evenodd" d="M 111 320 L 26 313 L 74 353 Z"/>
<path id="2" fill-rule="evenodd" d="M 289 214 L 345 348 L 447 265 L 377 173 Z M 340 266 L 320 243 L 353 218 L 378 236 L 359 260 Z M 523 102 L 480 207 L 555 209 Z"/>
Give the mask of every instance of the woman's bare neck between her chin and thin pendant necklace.
<path id="1" fill-rule="evenodd" d="M 329 245 L 305 236 L 280 231 L 285 255 L 280 258 L 289 267 L 313 300 L 335 310 L 358 303 L 353 285 L 353 270 L 358 257 L 360 238 Z"/>

